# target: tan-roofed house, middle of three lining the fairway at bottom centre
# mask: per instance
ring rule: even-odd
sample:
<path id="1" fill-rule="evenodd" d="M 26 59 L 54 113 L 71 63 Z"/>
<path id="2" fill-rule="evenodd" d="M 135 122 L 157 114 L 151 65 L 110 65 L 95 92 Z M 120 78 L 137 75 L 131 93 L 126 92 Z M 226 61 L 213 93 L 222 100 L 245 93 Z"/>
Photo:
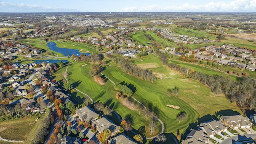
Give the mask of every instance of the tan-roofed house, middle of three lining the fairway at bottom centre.
<path id="1" fill-rule="evenodd" d="M 111 120 L 109 120 L 105 117 L 92 121 L 92 124 L 94 126 L 96 126 L 98 132 L 100 132 L 100 133 L 103 132 L 107 128 L 112 132 L 111 136 L 114 136 L 120 132 L 119 126 L 117 126 Z"/>

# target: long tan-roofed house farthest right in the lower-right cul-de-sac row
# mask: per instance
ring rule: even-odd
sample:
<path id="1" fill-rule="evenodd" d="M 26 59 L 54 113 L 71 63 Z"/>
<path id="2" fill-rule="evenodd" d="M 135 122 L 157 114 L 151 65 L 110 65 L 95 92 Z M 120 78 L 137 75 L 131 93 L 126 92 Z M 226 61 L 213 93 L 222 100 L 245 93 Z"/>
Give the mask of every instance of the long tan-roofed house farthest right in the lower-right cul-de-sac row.
<path id="1" fill-rule="evenodd" d="M 236 129 L 236 128 L 250 128 L 252 126 L 252 123 L 250 122 L 250 119 L 245 116 L 221 116 L 220 120 L 225 124 L 226 126 Z"/>

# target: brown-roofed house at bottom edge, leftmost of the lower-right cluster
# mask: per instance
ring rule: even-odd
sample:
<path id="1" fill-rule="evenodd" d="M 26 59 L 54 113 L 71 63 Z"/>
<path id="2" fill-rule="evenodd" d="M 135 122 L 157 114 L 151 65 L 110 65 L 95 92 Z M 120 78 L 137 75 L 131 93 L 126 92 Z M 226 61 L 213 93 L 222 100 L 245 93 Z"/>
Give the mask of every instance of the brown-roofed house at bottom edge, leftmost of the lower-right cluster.
<path id="1" fill-rule="evenodd" d="M 181 144 L 205 144 L 209 142 L 207 134 L 203 130 L 191 129 L 190 133 L 182 140 Z"/>

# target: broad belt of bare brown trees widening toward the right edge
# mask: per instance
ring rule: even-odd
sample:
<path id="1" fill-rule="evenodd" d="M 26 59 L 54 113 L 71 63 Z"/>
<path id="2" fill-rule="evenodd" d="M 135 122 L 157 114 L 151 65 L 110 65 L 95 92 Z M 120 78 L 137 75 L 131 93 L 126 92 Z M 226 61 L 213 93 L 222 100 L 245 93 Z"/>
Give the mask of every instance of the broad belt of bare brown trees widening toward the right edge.
<path id="1" fill-rule="evenodd" d="M 204 74 L 174 63 L 168 67 L 209 86 L 216 95 L 223 93 L 230 102 L 236 102 L 241 108 L 251 110 L 256 105 L 256 82 L 251 78 L 241 77 L 238 82 L 234 82 L 226 76 Z"/>

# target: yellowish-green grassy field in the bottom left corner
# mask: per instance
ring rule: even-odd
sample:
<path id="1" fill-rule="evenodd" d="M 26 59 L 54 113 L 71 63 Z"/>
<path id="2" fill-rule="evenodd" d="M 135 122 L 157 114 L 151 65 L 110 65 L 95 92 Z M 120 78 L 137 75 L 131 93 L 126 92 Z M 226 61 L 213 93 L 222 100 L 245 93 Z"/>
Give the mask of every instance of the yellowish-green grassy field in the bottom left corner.
<path id="1" fill-rule="evenodd" d="M 8 140 L 26 140 L 38 117 L 26 116 L 21 119 L 0 122 L 0 136 Z"/>

